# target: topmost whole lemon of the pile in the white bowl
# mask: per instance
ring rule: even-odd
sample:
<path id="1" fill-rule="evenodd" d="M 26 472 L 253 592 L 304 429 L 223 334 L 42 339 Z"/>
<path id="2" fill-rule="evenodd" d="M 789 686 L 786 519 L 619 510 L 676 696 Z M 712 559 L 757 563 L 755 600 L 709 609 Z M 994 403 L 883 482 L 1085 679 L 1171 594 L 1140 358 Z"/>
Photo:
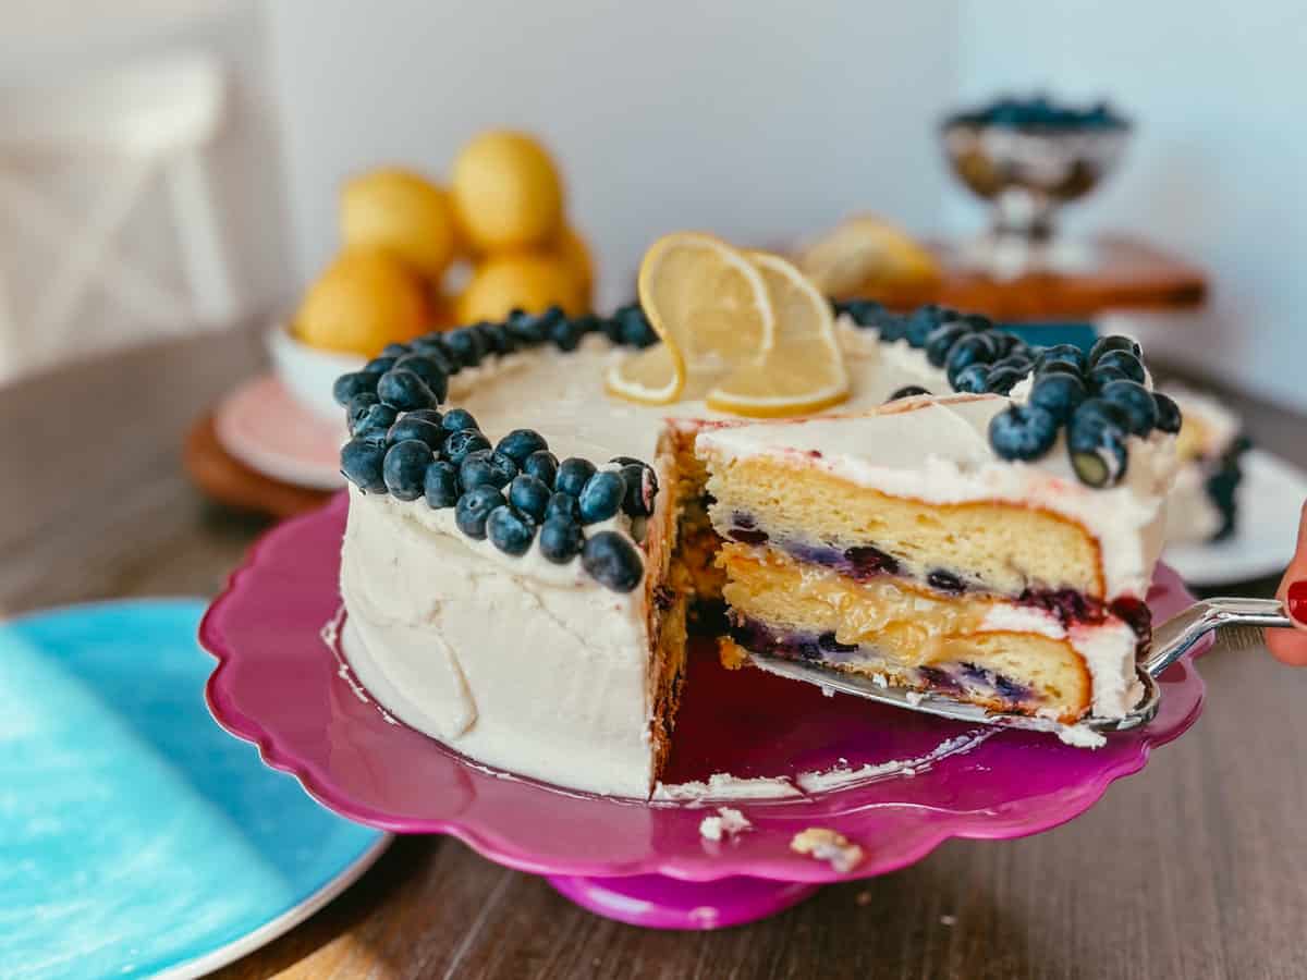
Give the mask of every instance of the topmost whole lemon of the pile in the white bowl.
<path id="1" fill-rule="evenodd" d="M 480 252 L 548 244 L 562 225 L 563 188 L 554 162 L 525 133 L 497 129 L 454 161 L 454 208 Z"/>

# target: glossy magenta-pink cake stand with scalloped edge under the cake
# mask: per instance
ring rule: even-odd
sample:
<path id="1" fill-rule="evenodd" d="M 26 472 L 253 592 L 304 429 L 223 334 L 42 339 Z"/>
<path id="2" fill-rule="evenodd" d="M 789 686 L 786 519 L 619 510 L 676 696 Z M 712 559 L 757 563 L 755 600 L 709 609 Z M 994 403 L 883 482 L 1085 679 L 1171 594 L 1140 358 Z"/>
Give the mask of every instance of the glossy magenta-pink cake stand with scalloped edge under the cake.
<path id="1" fill-rule="evenodd" d="M 1052 736 L 966 725 L 758 670 L 727 674 L 694 651 L 667 783 L 882 766 L 887 775 L 787 800 L 725 801 L 752 827 L 701 835 L 718 804 L 648 804 L 569 793 L 480 767 L 361 698 L 322 636 L 339 612 L 346 500 L 286 521 L 251 551 L 209 608 L 201 644 L 218 660 L 209 708 L 264 760 L 324 806 L 400 834 L 452 834 L 491 861 L 548 875 L 600 915 L 655 928 L 708 929 L 772 915 L 826 882 L 893 872 L 948 838 L 1008 839 L 1077 817 L 1108 784 L 1199 716 L 1202 681 L 1182 660 L 1162 677 L 1148 727 L 1097 751 Z M 1191 601 L 1174 572 L 1149 595 L 1165 618 Z M 836 870 L 795 853 L 808 827 L 863 848 Z"/>

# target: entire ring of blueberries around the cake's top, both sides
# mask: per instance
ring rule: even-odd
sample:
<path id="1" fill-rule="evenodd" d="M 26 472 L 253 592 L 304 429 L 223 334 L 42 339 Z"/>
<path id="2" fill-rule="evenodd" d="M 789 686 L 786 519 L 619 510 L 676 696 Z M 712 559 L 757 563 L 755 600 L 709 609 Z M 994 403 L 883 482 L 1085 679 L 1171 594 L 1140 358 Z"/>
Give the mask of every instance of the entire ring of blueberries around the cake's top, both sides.
<path id="1" fill-rule="evenodd" d="M 1004 460 L 1042 459 L 1065 431 L 1077 477 L 1104 487 L 1125 476 L 1131 435 L 1180 429 L 1176 404 L 1145 387 L 1140 346 L 1128 337 L 1102 337 L 1086 355 L 1070 344 L 1027 345 L 985 316 L 936 304 L 911 314 L 867 299 L 836 301 L 833 307 L 856 327 L 874 328 L 881 342 L 906 341 L 923 350 L 954 392 L 1008 396 L 1031 378 L 1025 401 L 1013 402 L 989 425 L 989 444 Z M 515 429 L 491 446 L 469 412 L 440 409 L 450 378 L 460 371 L 550 344 L 570 353 L 591 333 L 614 346 L 659 342 L 639 304 L 629 303 L 608 318 L 567 318 L 558 307 L 541 314 L 515 310 L 503 323 L 391 344 L 332 388 L 350 435 L 340 451 L 341 473 L 365 494 L 423 498 L 433 510 L 452 507 L 461 533 L 489 540 L 510 557 L 524 555 L 538 534 L 546 561 L 579 559 L 600 584 L 630 592 L 643 578 L 631 538 L 617 531 L 587 534 L 586 528 L 618 514 L 644 519 L 654 512 L 659 486 L 647 463 L 630 456 L 604 464 L 558 460 L 532 429 Z M 911 385 L 891 400 L 929 395 Z"/>

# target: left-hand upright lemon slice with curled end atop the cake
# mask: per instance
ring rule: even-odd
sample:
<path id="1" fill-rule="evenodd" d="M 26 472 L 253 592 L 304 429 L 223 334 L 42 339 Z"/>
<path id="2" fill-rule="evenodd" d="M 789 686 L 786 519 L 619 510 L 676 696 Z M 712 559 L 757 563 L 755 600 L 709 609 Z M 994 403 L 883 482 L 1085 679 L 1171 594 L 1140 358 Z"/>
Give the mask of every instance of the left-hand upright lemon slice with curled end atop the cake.
<path id="1" fill-rule="evenodd" d="M 757 268 L 725 242 L 680 231 L 655 242 L 639 274 L 640 306 L 661 338 L 608 372 L 608 391 L 648 405 L 676 401 L 686 378 L 727 374 L 772 344 L 775 314 Z"/>

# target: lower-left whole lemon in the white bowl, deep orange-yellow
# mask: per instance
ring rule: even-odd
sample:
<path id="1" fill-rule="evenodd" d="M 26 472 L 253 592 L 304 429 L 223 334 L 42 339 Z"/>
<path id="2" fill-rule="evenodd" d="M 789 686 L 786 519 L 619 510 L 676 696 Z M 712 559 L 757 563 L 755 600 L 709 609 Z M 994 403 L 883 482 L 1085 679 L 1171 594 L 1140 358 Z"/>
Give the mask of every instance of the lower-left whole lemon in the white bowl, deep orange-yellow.
<path id="1" fill-rule="evenodd" d="M 408 265 L 382 248 L 348 248 L 308 287 L 293 328 L 310 346 L 375 357 L 429 319 L 426 285 Z"/>

